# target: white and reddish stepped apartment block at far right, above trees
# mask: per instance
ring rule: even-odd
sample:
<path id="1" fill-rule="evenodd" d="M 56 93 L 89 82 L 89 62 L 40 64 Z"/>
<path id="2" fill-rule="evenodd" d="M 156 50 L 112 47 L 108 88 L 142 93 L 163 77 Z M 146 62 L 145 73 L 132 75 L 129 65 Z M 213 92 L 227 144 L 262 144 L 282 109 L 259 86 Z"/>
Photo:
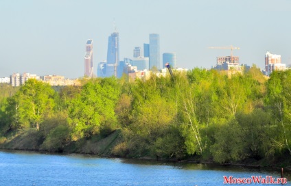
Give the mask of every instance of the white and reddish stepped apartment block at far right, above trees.
<path id="1" fill-rule="evenodd" d="M 281 64 L 281 55 L 272 54 L 269 51 L 265 55 L 265 72 L 270 75 L 275 70 L 286 70 L 286 64 Z"/>

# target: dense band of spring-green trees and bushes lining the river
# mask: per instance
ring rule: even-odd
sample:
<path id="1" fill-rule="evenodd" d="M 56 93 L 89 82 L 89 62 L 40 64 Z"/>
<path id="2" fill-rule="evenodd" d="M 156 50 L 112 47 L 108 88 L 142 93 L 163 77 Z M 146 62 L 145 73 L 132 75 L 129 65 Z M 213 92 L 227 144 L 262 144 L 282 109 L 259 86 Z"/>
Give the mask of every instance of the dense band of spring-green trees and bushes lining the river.
<path id="1" fill-rule="evenodd" d="M 256 66 L 244 75 L 199 68 L 174 74 L 130 83 L 84 79 L 82 87 L 58 91 L 29 80 L 3 94 L 1 135 L 36 128 L 44 150 L 60 151 L 120 129 L 111 151 L 121 157 L 230 163 L 291 155 L 291 70 L 270 79 Z"/>

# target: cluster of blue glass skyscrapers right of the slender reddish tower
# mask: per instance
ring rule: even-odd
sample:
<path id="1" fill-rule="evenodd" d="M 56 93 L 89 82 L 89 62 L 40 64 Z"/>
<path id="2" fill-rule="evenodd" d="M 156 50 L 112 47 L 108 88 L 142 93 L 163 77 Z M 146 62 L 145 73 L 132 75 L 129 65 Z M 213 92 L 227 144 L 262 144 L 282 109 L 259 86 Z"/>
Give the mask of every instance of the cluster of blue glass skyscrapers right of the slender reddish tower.
<path id="1" fill-rule="evenodd" d="M 150 70 L 156 66 L 157 70 L 161 70 L 164 67 L 161 66 L 159 34 L 149 34 L 149 42 L 143 44 L 143 53 L 141 47 L 135 47 L 132 59 L 125 57 L 124 61 L 119 61 L 119 33 L 113 32 L 108 37 L 107 60 L 97 65 L 97 76 L 119 78 L 128 66 L 137 66 L 137 70 Z M 166 53 L 166 56 L 167 61 L 176 68 L 176 53 Z"/>

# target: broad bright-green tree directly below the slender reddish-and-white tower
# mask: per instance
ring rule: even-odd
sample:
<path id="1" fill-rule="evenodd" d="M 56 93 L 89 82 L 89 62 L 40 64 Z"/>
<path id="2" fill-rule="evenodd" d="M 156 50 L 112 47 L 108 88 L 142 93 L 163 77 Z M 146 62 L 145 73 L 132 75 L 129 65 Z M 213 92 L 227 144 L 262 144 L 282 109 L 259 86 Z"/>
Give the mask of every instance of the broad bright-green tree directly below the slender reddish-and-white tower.
<path id="1" fill-rule="evenodd" d="M 92 79 L 83 85 L 68 108 L 73 140 L 100 133 L 100 129 L 110 133 L 117 124 L 114 109 L 119 94 L 120 87 L 114 77 Z"/>

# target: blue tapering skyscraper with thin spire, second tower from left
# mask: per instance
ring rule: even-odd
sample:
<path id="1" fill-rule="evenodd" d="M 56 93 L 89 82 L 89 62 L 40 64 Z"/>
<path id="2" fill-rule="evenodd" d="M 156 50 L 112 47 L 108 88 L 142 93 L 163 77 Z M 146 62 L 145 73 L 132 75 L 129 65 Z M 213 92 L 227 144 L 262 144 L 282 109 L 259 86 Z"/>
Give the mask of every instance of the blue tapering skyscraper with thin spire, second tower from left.
<path id="1" fill-rule="evenodd" d="M 117 31 L 115 31 L 108 37 L 108 49 L 107 49 L 108 68 L 106 69 L 107 76 L 115 75 L 115 77 L 117 77 L 118 62 L 119 62 L 119 34 Z"/>

